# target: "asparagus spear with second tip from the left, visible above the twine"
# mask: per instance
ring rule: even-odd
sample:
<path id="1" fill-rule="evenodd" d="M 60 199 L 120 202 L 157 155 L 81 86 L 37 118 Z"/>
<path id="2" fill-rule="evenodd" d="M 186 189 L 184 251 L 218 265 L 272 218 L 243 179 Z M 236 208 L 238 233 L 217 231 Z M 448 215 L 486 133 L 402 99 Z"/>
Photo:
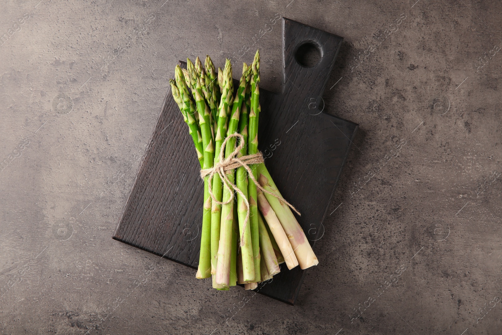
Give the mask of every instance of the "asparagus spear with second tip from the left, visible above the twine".
<path id="1" fill-rule="evenodd" d="M 203 149 L 202 149 L 202 138 L 200 136 L 200 128 L 195 119 L 195 106 L 192 98 L 190 97 L 190 93 L 188 92 L 188 87 L 185 82 L 185 76 L 183 75 L 183 71 L 181 67 L 176 66 L 175 70 L 175 80 L 176 86 L 179 90 L 180 97 L 183 100 L 183 117 L 190 129 L 190 135 L 192 136 L 193 143 L 195 145 L 195 151 L 197 152 L 197 159 L 201 167 L 204 163 Z M 171 87 L 173 87 L 173 83 L 171 83 Z"/>

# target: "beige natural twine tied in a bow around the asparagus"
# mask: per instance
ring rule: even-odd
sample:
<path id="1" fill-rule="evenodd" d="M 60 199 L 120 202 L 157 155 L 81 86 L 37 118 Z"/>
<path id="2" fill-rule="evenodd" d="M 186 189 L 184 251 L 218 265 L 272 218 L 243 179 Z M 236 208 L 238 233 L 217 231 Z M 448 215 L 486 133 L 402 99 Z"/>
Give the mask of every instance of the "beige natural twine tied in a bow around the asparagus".
<path id="1" fill-rule="evenodd" d="M 233 138 L 233 137 L 236 137 L 239 141 L 239 145 L 236 147 L 234 145 L 234 150 L 232 151 L 232 153 L 230 154 L 230 156 L 228 156 L 228 158 L 225 159 L 225 146 L 226 146 L 226 142 Z M 236 144 L 236 143 L 235 143 Z M 246 229 L 246 226 L 247 226 L 247 222 L 249 220 L 249 201 L 247 200 L 247 196 L 244 195 L 244 193 L 242 193 L 242 191 L 237 187 L 237 185 L 235 185 L 234 183 L 232 183 L 227 175 L 226 175 L 226 171 L 231 171 L 233 169 L 236 169 L 238 167 L 241 167 L 243 166 L 244 169 L 246 169 L 247 171 L 247 175 L 251 178 L 251 180 L 255 183 L 256 187 L 259 188 L 262 192 L 264 193 L 268 193 L 268 194 L 271 194 L 273 196 L 275 196 L 276 198 L 278 198 L 281 202 L 284 202 L 285 204 L 287 204 L 291 209 L 293 209 L 298 215 L 301 215 L 300 212 L 295 208 L 295 206 L 293 206 L 291 203 L 289 203 L 288 201 L 286 201 L 286 199 L 284 199 L 283 197 L 273 193 L 273 192 L 270 192 L 270 191 L 267 191 L 265 188 L 263 188 L 260 183 L 255 179 L 255 176 L 253 175 L 253 171 L 251 171 L 251 169 L 249 168 L 249 164 L 260 164 L 260 163 L 263 163 L 264 162 L 264 159 L 263 159 L 263 155 L 261 152 L 257 153 L 257 154 L 254 154 L 254 155 L 247 155 L 247 156 L 241 156 L 241 157 L 238 157 L 237 158 L 237 155 L 239 154 L 240 150 L 244 147 L 244 137 L 238 133 L 234 133 L 234 134 L 231 134 L 231 135 L 228 135 L 226 137 L 226 139 L 223 141 L 223 143 L 221 144 L 221 148 L 220 148 L 220 153 L 219 153 L 219 156 L 218 156 L 218 163 L 214 164 L 214 166 L 212 168 L 209 168 L 209 169 L 201 169 L 200 170 L 200 176 L 202 179 L 204 179 L 205 176 L 209 176 L 208 178 L 208 184 L 209 184 L 209 195 L 211 196 L 211 199 L 212 201 L 220 204 L 220 205 L 224 205 L 224 204 L 227 204 L 227 203 L 230 203 L 233 201 L 233 191 L 237 192 L 240 194 L 240 196 L 242 197 L 242 199 L 244 200 L 244 203 L 246 205 L 246 218 L 244 220 L 244 225 L 242 227 L 242 236 L 240 237 L 240 245 L 242 246 L 242 243 L 243 243 L 243 239 L 244 239 L 244 231 Z M 219 177 L 221 178 L 221 181 L 223 183 L 223 186 L 226 188 L 226 190 L 228 191 L 228 193 L 230 193 L 230 198 L 227 200 L 227 201 L 218 201 L 218 199 L 216 199 L 216 197 L 214 196 L 213 194 L 213 191 L 212 191 L 212 180 L 213 180 L 213 176 L 217 174 L 219 175 Z M 258 199 L 255 199 L 255 201 L 258 202 Z"/>

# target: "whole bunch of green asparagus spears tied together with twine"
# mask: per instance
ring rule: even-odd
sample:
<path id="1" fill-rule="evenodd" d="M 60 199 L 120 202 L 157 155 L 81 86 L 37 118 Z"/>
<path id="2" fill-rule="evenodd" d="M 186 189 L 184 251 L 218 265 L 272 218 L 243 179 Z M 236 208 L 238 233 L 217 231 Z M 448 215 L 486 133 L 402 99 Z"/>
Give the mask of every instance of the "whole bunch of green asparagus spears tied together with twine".
<path id="1" fill-rule="evenodd" d="M 209 56 L 204 66 L 199 57 L 195 64 L 187 59 L 186 69 L 176 66 L 170 84 L 202 169 L 216 167 L 222 159 L 231 157 L 237 138 L 241 141 L 237 158 L 259 153 L 258 50 L 250 66 L 243 63 L 237 89 L 230 61 L 227 59 L 223 70 L 216 72 Z M 204 177 L 197 278 L 212 276 L 213 287 L 219 290 L 228 290 L 236 283 L 255 289 L 259 282 L 279 273 L 281 263 L 285 262 L 288 269 L 318 264 L 264 163 L 226 170 L 223 179 L 225 182 L 217 173 Z"/>

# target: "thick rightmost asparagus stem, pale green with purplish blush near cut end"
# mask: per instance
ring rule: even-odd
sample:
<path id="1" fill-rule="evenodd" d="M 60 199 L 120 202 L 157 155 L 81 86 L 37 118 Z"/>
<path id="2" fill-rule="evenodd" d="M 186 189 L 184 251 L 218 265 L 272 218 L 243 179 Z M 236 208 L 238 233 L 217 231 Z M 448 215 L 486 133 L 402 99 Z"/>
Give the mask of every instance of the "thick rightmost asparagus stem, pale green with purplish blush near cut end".
<path id="1" fill-rule="evenodd" d="M 267 191 L 282 197 L 281 193 L 277 189 L 276 184 L 272 180 L 272 177 L 270 176 L 270 173 L 267 170 L 265 164 L 263 163 L 258 164 L 258 172 L 259 172 L 258 181 L 260 182 L 260 185 Z M 298 224 L 295 215 L 288 207 L 288 205 L 282 203 L 278 198 L 276 198 L 272 194 L 264 193 L 264 195 L 266 200 L 268 200 L 268 203 L 270 204 L 271 208 L 277 215 L 279 221 L 281 222 L 281 226 L 283 227 L 284 232 L 287 234 L 289 238 L 289 242 L 293 247 L 293 250 L 295 251 L 296 258 L 298 259 L 298 263 L 300 264 L 300 268 L 307 269 L 313 265 L 319 264 L 319 261 L 317 260 L 317 257 L 315 256 L 314 251 L 312 250 L 312 247 L 310 246 L 310 243 L 307 240 L 307 237 L 305 236 L 300 224 Z M 263 213 L 265 215 L 265 212 Z M 274 231 L 272 231 L 272 233 L 274 233 Z M 274 237 L 276 236 L 274 235 Z M 277 239 L 277 237 L 276 241 L 279 244 L 279 240 Z M 282 254 L 286 258 L 285 253 L 283 252 Z"/>

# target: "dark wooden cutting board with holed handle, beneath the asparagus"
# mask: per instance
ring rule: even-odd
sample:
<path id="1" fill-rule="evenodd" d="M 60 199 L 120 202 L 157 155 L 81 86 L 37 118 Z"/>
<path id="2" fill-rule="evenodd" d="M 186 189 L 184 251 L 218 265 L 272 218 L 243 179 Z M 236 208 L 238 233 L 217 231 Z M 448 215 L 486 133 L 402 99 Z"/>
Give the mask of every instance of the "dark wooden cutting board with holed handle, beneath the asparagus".
<path id="1" fill-rule="evenodd" d="M 314 245 L 330 229 L 322 221 L 358 125 L 320 113 L 320 97 L 343 39 L 286 18 L 283 34 L 284 91 L 260 89 L 259 147 L 282 195 L 302 213 L 298 221 Z M 295 56 L 305 43 L 321 54 L 310 68 Z M 168 91 L 113 239 L 196 269 L 202 199 L 192 139 Z M 308 270 L 290 271 L 284 265 L 259 292 L 294 304 Z M 210 287 L 211 280 L 205 281 Z"/>

